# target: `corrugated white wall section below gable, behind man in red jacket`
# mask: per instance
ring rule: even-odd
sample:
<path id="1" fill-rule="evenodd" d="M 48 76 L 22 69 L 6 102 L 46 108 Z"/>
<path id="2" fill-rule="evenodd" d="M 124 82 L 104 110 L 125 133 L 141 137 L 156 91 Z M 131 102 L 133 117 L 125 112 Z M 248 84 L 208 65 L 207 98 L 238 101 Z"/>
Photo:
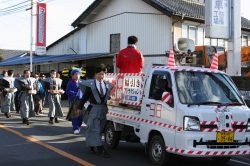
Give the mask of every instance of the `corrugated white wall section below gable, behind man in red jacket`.
<path id="1" fill-rule="evenodd" d="M 171 18 L 161 14 L 124 13 L 87 25 L 87 53 L 110 51 L 110 34 L 120 33 L 121 48 L 127 37 L 139 39 L 138 49 L 145 55 L 164 54 L 171 44 Z"/>

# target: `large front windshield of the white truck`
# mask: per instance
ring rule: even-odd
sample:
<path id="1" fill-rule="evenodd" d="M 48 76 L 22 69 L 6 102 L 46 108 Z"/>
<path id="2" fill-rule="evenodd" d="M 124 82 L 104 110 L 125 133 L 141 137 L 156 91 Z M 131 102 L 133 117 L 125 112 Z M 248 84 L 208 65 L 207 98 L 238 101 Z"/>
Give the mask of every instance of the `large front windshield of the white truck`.
<path id="1" fill-rule="evenodd" d="M 233 102 L 245 105 L 228 75 L 179 71 L 175 73 L 175 80 L 182 104 Z"/>

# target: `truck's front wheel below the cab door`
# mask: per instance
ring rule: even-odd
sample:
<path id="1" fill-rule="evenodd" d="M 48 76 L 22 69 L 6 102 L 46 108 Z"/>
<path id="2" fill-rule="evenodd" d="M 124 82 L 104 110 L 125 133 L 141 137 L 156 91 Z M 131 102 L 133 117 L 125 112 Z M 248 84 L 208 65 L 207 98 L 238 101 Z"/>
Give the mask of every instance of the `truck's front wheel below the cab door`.
<path id="1" fill-rule="evenodd" d="M 161 136 L 154 136 L 149 144 L 149 157 L 154 165 L 166 165 L 169 161 L 169 153 Z"/>

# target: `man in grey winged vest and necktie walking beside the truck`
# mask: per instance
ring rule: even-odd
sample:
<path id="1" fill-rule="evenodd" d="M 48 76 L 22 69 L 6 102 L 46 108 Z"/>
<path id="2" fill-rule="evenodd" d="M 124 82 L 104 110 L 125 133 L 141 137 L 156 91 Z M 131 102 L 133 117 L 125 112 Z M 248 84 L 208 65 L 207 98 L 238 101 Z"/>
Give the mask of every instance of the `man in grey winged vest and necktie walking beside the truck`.
<path id="1" fill-rule="evenodd" d="M 81 114 L 83 105 L 89 100 L 90 104 L 87 108 L 87 113 L 84 115 L 84 122 L 86 123 L 86 144 L 91 154 L 95 153 L 94 147 L 96 147 L 101 156 L 109 158 L 110 155 L 102 145 L 102 131 L 105 127 L 106 114 L 108 112 L 106 103 L 113 87 L 109 82 L 103 81 L 106 72 L 106 66 L 101 64 L 95 68 L 94 80 L 79 83 L 79 87 L 84 95 L 77 112 Z"/>

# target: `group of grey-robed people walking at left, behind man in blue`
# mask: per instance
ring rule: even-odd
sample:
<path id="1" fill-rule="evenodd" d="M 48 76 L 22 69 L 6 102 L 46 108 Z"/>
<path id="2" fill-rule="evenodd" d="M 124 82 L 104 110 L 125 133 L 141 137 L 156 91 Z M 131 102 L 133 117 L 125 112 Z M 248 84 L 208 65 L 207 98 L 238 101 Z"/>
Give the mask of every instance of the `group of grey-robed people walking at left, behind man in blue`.
<path id="1" fill-rule="evenodd" d="M 6 118 L 11 117 L 11 111 L 20 113 L 22 122 L 29 125 L 30 118 L 42 113 L 45 99 L 49 103 L 49 123 L 58 123 L 58 117 L 63 117 L 59 94 L 63 94 L 59 78 L 55 78 L 55 70 L 49 78 L 35 73 L 32 77 L 29 70 L 14 76 L 13 70 L 4 70 L 0 76 L 1 112 Z M 50 91 L 57 91 L 51 94 Z M 59 103 L 59 106 L 58 106 Z M 58 108 L 56 108 L 58 107 Z"/>

